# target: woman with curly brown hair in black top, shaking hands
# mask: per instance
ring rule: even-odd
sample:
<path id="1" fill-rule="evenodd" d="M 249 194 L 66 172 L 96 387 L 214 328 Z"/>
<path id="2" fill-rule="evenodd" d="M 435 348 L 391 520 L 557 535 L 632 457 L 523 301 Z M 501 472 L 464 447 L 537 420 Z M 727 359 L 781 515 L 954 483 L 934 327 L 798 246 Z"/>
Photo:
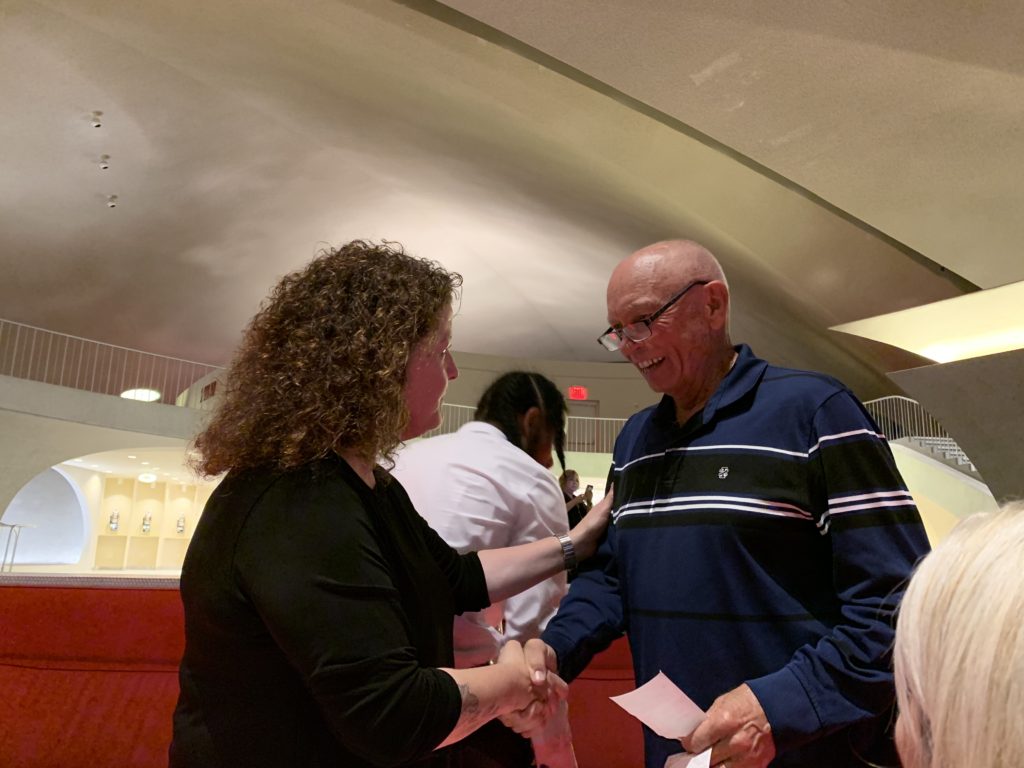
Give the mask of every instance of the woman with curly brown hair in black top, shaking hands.
<path id="1" fill-rule="evenodd" d="M 247 329 L 196 439 L 197 468 L 227 474 L 181 571 L 171 766 L 460 766 L 450 745 L 564 696 L 540 641 L 454 669 L 452 622 L 593 553 L 610 504 L 459 555 L 379 464 L 440 423 L 461 282 L 356 241 L 284 278 Z"/>

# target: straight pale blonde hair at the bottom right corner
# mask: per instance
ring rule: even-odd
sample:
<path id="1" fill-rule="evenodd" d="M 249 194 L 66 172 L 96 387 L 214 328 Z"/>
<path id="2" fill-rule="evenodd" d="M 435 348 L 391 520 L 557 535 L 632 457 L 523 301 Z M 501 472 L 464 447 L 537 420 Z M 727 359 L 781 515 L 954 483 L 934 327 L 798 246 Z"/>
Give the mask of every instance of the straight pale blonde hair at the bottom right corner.
<path id="1" fill-rule="evenodd" d="M 1024 504 L 973 515 L 918 567 L 894 653 L 904 768 L 1024 755 Z"/>

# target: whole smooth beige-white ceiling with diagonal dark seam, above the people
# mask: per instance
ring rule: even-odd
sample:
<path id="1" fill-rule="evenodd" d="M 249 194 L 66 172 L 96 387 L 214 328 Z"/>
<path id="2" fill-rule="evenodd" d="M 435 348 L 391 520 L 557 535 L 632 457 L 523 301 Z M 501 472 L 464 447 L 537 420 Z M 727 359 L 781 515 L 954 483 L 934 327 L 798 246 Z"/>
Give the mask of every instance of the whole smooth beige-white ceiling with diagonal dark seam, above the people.
<path id="1" fill-rule="evenodd" d="M 1024 4 L 964 5 L 0 0 L 0 317 L 223 364 L 387 238 L 464 273 L 458 349 L 605 360 L 683 236 L 737 340 L 873 396 L 920 358 L 829 327 L 1024 279 Z"/>

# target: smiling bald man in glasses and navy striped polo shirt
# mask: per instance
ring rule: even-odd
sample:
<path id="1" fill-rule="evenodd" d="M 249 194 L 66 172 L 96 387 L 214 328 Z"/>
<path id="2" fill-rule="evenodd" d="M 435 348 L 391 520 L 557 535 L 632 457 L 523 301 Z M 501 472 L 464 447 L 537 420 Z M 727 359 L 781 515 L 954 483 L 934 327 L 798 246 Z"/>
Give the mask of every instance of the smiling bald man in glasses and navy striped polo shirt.
<path id="1" fill-rule="evenodd" d="M 733 345 L 696 243 L 631 255 L 607 305 L 599 341 L 664 396 L 615 443 L 604 567 L 544 633 L 562 676 L 626 632 L 638 684 L 664 671 L 707 710 L 681 743 L 645 729 L 647 768 L 895 765 L 893 616 L 928 540 L 879 428 L 835 379 Z"/>

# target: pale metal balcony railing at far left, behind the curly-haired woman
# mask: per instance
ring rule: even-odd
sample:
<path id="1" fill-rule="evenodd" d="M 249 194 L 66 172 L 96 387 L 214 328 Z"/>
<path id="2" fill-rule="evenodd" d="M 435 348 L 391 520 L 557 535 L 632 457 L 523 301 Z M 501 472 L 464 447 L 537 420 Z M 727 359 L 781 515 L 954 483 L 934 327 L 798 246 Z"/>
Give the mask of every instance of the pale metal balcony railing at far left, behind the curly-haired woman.
<path id="1" fill-rule="evenodd" d="M 0 319 L 2 376 L 99 394 L 153 390 L 159 397 L 152 401 L 202 408 L 221 370 Z M 194 387 L 200 381 L 205 386 Z"/>

